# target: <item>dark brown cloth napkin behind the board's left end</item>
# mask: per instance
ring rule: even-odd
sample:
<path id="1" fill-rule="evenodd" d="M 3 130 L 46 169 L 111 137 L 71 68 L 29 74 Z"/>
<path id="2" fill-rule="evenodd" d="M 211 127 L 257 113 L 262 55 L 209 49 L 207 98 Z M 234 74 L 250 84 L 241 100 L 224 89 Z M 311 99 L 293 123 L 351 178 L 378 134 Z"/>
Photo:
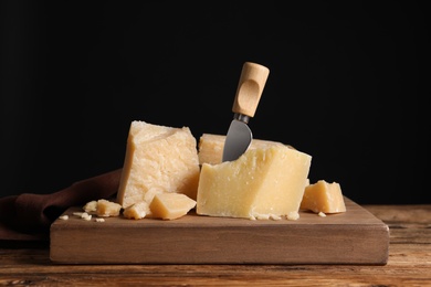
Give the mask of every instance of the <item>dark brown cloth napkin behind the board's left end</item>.
<path id="1" fill-rule="evenodd" d="M 0 199 L 0 240 L 49 241 L 51 224 L 69 208 L 113 198 L 122 169 L 77 181 L 51 194 L 23 193 Z"/>

